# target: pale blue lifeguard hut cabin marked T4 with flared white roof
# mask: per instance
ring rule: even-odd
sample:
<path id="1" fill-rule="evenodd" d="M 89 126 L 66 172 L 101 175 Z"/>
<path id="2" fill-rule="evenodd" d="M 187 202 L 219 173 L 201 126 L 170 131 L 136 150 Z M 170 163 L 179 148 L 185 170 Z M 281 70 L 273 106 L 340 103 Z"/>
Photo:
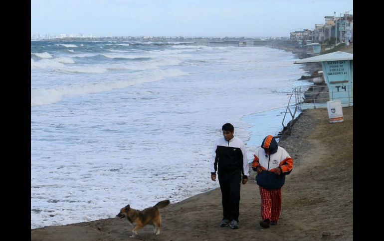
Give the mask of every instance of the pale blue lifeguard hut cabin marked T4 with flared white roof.
<path id="1" fill-rule="evenodd" d="M 329 100 L 339 99 L 343 107 L 353 106 L 353 54 L 338 51 L 298 60 L 294 64 L 313 62 L 321 62 Z"/>

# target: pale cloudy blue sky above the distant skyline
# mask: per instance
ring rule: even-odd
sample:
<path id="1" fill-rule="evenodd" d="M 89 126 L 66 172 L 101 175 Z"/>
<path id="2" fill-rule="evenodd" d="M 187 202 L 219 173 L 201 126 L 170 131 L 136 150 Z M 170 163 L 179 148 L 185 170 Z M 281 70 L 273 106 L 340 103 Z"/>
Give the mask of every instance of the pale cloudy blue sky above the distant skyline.
<path id="1" fill-rule="evenodd" d="M 353 0 L 31 0 L 31 35 L 289 37 Z"/>

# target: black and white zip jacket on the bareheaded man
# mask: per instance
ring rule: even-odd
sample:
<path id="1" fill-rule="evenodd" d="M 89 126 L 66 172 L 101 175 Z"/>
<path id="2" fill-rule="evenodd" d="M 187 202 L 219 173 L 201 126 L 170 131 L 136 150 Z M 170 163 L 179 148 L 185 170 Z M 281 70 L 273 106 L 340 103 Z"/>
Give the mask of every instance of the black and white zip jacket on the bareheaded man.
<path id="1" fill-rule="evenodd" d="M 226 175 L 241 170 L 243 178 L 249 175 L 247 152 L 244 143 L 237 137 L 226 141 L 218 139 L 212 150 L 210 160 L 211 174 Z"/>

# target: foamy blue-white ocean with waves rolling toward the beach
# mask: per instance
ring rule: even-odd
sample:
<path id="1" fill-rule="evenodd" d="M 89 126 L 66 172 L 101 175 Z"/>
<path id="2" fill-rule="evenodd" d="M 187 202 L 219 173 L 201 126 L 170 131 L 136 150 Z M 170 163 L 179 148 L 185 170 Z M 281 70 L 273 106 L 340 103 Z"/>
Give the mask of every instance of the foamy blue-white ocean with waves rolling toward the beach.
<path id="1" fill-rule="evenodd" d="M 308 83 L 296 60 L 267 47 L 32 41 L 31 228 L 218 187 L 221 126 L 234 125 L 251 161 Z"/>

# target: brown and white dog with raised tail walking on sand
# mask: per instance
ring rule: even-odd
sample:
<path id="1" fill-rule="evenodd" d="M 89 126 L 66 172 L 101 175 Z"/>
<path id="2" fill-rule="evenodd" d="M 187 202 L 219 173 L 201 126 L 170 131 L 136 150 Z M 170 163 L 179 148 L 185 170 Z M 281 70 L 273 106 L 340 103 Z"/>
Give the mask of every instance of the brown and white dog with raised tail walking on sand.
<path id="1" fill-rule="evenodd" d="M 170 200 L 164 200 L 158 202 L 155 206 L 146 208 L 142 211 L 133 209 L 129 206 L 125 206 L 120 209 L 120 213 L 116 215 L 120 219 L 127 218 L 128 222 L 132 225 L 132 236 L 130 238 L 135 238 L 137 231 L 142 229 L 147 224 L 154 226 L 154 233 L 156 235 L 160 234 L 161 229 L 161 216 L 159 209 L 165 208 L 170 204 Z"/>

